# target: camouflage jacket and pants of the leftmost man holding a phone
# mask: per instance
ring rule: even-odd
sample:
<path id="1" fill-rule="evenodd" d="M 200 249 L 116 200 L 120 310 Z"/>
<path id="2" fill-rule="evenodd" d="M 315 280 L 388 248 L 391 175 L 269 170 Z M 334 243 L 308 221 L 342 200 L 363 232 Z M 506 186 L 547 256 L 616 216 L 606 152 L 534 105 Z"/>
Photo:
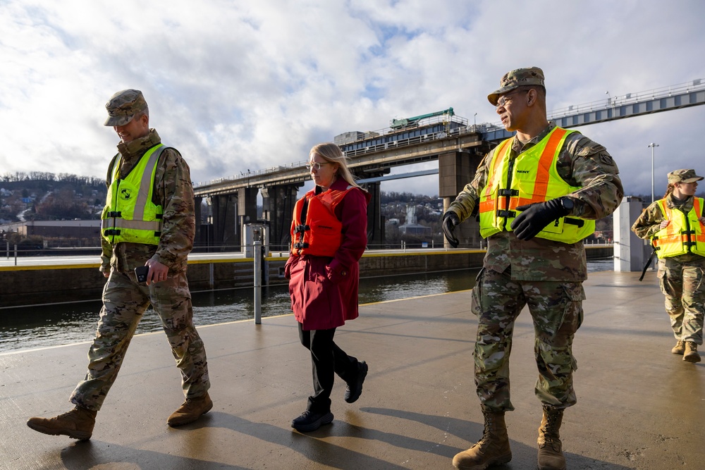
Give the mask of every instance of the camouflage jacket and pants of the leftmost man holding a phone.
<path id="1" fill-rule="evenodd" d="M 118 144 L 123 157 L 121 178 L 159 142 L 157 131 L 151 129 L 146 137 Z M 193 325 L 186 279 L 187 256 L 195 235 L 193 188 L 188 164 L 176 149 L 167 148 L 159 157 L 153 202 L 164 208 L 158 246 L 128 242 L 111 245 L 103 239 L 100 270 L 110 272 L 110 276 L 103 290 L 96 338 L 88 352 L 88 371 L 71 395 L 71 402 L 80 407 L 100 409 L 118 375 L 137 323 L 149 304 L 164 325 L 171 352 L 181 371 L 185 397 L 202 397 L 210 386 L 206 353 Z M 150 285 L 137 283 L 134 269 L 145 266 L 150 258 L 168 267 L 168 277 Z"/>

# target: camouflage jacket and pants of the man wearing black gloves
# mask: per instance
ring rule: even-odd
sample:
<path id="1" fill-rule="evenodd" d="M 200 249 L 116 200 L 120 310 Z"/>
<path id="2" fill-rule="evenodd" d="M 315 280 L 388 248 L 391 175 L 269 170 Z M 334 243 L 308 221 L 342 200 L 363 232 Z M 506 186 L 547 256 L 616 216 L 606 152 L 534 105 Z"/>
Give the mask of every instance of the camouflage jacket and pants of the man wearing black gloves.
<path id="1" fill-rule="evenodd" d="M 540 142 L 555 125 L 522 144 L 516 137 L 510 158 Z M 460 221 L 470 217 L 489 178 L 491 154 L 477 168 L 472 182 L 448 210 Z M 580 190 L 568 194 L 575 202 L 570 216 L 598 219 L 611 214 L 623 197 L 618 168 L 605 147 L 573 132 L 558 156 L 557 171 Z M 519 240 L 511 231 L 491 235 L 482 271 L 472 290 L 472 312 L 478 316 L 475 342 L 475 384 L 484 412 L 513 410 L 510 401 L 509 354 L 514 322 L 529 305 L 539 368 L 536 395 L 545 405 L 562 409 L 575 404 L 572 371 L 577 363 L 572 340 L 582 323 L 582 281 L 587 261 L 581 242 L 566 244 L 539 237 Z"/>

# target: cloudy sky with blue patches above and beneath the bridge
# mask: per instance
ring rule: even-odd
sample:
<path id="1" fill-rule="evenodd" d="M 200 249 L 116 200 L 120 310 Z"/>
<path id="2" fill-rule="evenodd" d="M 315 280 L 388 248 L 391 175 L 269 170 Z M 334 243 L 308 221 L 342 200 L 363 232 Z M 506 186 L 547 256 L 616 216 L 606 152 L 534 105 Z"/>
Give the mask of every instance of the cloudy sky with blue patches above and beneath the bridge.
<path id="1" fill-rule="evenodd" d="M 312 145 L 453 107 L 496 123 L 486 95 L 539 66 L 548 109 L 705 79 L 705 2 L 496 0 L 0 0 L 0 175 L 104 177 L 102 125 L 119 89 L 206 182 L 307 159 Z M 705 106 L 579 128 L 605 145 L 627 194 L 705 171 Z M 432 163 L 404 168 L 404 173 Z M 436 194 L 438 178 L 383 183 Z"/>

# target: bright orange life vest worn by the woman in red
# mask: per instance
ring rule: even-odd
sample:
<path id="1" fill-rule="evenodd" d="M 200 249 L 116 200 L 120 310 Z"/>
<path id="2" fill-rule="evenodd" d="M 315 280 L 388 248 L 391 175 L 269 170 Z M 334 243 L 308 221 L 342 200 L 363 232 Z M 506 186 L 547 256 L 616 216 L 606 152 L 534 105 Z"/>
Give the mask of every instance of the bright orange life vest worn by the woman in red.
<path id="1" fill-rule="evenodd" d="M 296 202 L 291 223 L 291 254 L 335 256 L 343 240 L 343 223 L 336 216 L 336 206 L 354 187 L 320 194 L 311 190 Z"/>

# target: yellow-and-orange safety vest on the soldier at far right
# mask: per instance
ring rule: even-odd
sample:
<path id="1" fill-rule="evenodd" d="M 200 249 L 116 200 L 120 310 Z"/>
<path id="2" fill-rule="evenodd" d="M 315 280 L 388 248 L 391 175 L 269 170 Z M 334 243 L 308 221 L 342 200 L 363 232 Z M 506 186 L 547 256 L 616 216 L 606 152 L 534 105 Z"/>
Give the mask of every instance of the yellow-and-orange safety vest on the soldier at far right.
<path id="1" fill-rule="evenodd" d="M 705 256 L 705 227 L 698 220 L 703 214 L 703 198 L 693 198 L 693 208 L 688 214 L 670 209 L 666 199 L 656 201 L 663 217 L 670 223 L 651 237 L 658 258 L 670 258 L 679 254 L 694 253 Z"/>

